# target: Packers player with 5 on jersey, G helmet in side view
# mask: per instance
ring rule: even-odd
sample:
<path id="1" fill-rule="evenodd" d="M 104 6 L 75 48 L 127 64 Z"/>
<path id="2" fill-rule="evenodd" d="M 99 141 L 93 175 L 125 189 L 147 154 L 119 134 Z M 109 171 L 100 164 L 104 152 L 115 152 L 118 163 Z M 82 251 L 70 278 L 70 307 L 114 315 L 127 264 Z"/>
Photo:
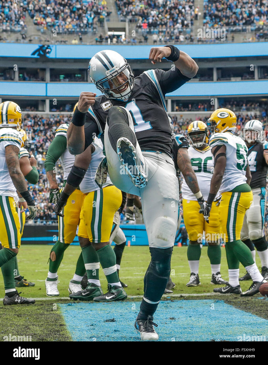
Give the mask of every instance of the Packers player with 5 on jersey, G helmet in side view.
<path id="1" fill-rule="evenodd" d="M 222 233 L 225 235 L 229 282 L 225 287 L 213 289 L 214 292 L 251 296 L 259 292 L 259 287 L 265 280 L 250 249 L 240 239 L 244 216 L 252 203 L 253 195 L 249 186 L 251 174 L 247 160 L 248 147 L 243 139 L 233 134 L 235 130 L 236 115 L 229 109 L 217 109 L 208 119 L 206 132 L 208 136 L 212 133 L 209 144 L 214 155 L 214 172 L 203 214 L 208 220 L 213 200 L 219 191 L 222 194 L 219 216 Z M 253 280 L 244 293 L 238 281 L 240 262 Z"/>

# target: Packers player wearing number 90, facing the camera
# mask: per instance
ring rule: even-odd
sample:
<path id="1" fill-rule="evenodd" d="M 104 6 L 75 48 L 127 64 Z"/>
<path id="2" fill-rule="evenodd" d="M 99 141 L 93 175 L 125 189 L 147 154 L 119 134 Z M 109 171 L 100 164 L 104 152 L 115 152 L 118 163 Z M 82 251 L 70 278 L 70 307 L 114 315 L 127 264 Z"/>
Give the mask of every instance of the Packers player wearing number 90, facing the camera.
<path id="1" fill-rule="evenodd" d="M 188 155 L 192 168 L 196 174 L 198 185 L 201 187 L 204 199 L 207 200 L 210 181 L 214 169 L 214 157 L 208 145 L 206 136 L 206 124 L 200 120 L 195 120 L 188 127 L 187 137 L 190 142 Z M 185 228 L 189 235 L 189 245 L 187 249 L 188 263 L 190 267 L 190 280 L 187 287 L 196 287 L 201 284 L 199 280 L 199 260 L 201 256 L 200 243 L 203 242 L 203 232 L 205 232 L 208 243 L 207 254 L 211 265 L 211 284 L 226 284 L 222 279 L 221 269 L 221 246 L 219 223 L 219 202 L 221 196 L 217 193 L 212 204 L 209 223 L 199 214 L 200 205 L 187 184 L 182 184 L 183 197 L 183 218 Z"/>

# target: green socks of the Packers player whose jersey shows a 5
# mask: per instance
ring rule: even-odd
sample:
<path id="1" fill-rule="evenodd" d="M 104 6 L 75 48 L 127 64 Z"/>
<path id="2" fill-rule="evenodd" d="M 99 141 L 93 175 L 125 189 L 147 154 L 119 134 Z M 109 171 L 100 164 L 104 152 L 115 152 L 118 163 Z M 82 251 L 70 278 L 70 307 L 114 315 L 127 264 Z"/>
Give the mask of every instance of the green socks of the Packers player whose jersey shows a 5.
<path id="1" fill-rule="evenodd" d="M 226 257 L 229 269 L 239 269 L 239 262 L 245 267 L 254 264 L 250 249 L 241 239 L 226 242 Z"/>

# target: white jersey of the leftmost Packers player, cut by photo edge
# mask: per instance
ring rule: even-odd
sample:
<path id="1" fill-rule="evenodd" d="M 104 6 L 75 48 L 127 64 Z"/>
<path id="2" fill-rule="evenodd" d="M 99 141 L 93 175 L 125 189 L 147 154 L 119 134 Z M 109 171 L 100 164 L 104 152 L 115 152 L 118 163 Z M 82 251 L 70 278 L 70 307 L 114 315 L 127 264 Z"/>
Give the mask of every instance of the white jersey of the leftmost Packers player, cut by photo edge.
<path id="1" fill-rule="evenodd" d="M 18 198 L 18 194 L 9 175 L 7 163 L 5 162 L 5 147 L 14 145 L 20 150 L 21 144 L 22 140 L 18 131 L 13 128 L 0 128 L 0 195 L 11 196 L 15 199 Z"/>

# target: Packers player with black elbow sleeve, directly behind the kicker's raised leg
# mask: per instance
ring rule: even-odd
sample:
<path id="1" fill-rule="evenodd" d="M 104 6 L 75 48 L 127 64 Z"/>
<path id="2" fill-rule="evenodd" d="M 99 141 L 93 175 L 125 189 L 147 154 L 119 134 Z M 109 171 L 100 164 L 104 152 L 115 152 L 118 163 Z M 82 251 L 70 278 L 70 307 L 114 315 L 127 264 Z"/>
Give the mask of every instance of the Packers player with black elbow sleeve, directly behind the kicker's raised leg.
<path id="1" fill-rule="evenodd" d="M 115 252 L 109 242 L 114 214 L 122 204 L 122 193 L 112 185 L 109 176 L 102 189 L 96 184 L 95 173 L 103 157 L 103 144 L 95 138 L 83 153 L 76 156 L 67 183 L 55 205 L 55 212 L 62 216 L 62 207 L 68 204 L 70 195 L 77 186 L 85 194 L 78 236 L 87 270 L 88 286 L 83 291 L 70 294 L 72 299 L 114 301 L 127 297 L 119 281 Z M 84 170 L 77 168 L 76 164 L 83 166 Z M 84 177 L 78 177 L 79 174 Z M 100 265 L 108 282 L 106 294 L 103 294 L 100 286 Z"/>

